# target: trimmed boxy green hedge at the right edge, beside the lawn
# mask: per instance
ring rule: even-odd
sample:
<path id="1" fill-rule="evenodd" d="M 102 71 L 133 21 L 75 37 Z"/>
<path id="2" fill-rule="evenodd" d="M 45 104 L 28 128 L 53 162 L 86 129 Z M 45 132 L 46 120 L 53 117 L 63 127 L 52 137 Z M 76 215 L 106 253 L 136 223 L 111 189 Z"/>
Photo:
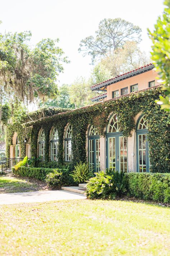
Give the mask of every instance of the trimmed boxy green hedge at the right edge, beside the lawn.
<path id="1" fill-rule="evenodd" d="M 170 174 L 128 173 L 128 194 L 143 200 L 170 202 Z"/>

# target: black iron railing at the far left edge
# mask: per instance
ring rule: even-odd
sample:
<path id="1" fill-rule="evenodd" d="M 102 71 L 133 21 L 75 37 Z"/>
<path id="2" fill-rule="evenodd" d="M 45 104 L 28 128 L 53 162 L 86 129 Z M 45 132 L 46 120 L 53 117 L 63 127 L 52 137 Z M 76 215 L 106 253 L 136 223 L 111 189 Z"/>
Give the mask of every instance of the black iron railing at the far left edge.
<path id="1" fill-rule="evenodd" d="M 0 160 L 0 173 L 1 174 L 7 174 L 10 173 L 12 171 L 12 167 L 19 163 L 20 161 L 22 161 L 24 158 L 19 157 L 19 158 L 4 158 L 2 160 Z M 29 158 L 30 159 L 30 158 Z M 26 164 L 27 166 L 27 164 Z"/>

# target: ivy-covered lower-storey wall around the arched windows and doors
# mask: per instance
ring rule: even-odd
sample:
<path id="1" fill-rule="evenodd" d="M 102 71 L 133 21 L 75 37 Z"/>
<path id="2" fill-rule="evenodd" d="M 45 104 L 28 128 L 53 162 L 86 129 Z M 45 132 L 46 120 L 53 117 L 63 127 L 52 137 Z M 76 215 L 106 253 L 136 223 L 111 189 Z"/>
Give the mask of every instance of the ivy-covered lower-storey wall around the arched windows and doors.
<path id="1" fill-rule="evenodd" d="M 119 131 L 122 136 L 131 141 L 128 153 L 128 162 L 131 163 L 128 171 L 136 171 L 136 139 L 132 140 L 136 134 L 136 123 L 139 116 L 145 115 L 147 120 L 147 141 L 149 146 L 149 161 L 151 172 L 170 172 L 170 114 L 161 110 L 155 104 L 159 94 L 162 93 L 160 87 L 148 88 L 141 92 L 131 93 L 119 99 L 111 99 L 99 102 L 76 110 L 67 109 L 40 109 L 30 113 L 20 122 L 12 125 L 8 124 L 6 131 L 6 154 L 10 157 L 10 147 L 13 145 L 14 133 L 17 133 L 20 143 L 20 157 L 26 154 L 26 144 L 31 147 L 31 155 L 37 157 L 38 136 L 41 129 L 44 130 L 44 160 L 50 160 L 50 134 L 53 127 L 58 132 L 58 154 L 57 163 L 65 164 L 65 130 L 67 124 L 72 126 L 72 156 L 71 164 L 79 161 L 88 161 L 88 127 L 94 125 L 98 129 L 100 136 L 100 147 L 103 147 L 100 154 L 101 168 L 107 168 L 106 132 L 109 116 L 117 114 Z M 30 121 L 30 118 L 32 119 Z M 27 143 L 24 142 L 25 138 Z M 134 148 L 132 150 L 132 141 Z M 102 153 L 103 152 L 103 153 Z M 132 154 L 134 154 L 132 156 Z M 134 163 L 132 166 L 132 158 Z"/>

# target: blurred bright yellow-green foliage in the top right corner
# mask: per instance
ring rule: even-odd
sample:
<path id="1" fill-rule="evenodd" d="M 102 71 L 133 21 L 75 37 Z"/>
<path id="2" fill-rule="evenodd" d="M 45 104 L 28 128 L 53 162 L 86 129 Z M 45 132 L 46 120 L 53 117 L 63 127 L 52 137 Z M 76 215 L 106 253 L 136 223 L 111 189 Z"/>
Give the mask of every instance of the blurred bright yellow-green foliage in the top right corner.
<path id="1" fill-rule="evenodd" d="M 170 0 L 164 1 L 164 4 L 164 13 L 162 18 L 157 19 L 154 32 L 148 32 L 153 43 L 152 60 L 163 81 L 163 90 L 166 90 L 166 97 L 160 96 L 156 102 L 161 109 L 170 111 Z"/>

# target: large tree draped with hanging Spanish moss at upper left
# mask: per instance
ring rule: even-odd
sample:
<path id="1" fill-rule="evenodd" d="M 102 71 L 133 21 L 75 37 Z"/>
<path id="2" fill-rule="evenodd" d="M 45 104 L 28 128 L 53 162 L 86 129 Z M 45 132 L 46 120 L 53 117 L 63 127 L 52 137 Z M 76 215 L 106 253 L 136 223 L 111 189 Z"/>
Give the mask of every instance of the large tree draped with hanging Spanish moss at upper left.
<path id="1" fill-rule="evenodd" d="M 30 38 L 30 31 L 0 34 L 1 87 L 9 96 L 27 103 L 37 97 L 55 97 L 56 77 L 63 71 L 62 63 L 68 63 L 63 50 L 56 46 L 59 39 L 43 39 L 31 49 Z"/>

